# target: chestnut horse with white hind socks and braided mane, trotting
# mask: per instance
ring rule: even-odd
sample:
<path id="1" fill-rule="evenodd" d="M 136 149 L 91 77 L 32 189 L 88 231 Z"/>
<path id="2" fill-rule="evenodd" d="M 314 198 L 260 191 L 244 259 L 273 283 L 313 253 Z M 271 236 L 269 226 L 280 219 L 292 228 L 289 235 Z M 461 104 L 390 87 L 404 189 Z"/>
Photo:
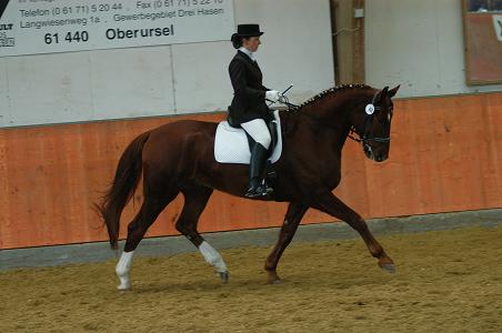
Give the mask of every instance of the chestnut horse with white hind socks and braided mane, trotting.
<path id="1" fill-rule="evenodd" d="M 389 157 L 392 90 L 368 85 L 329 89 L 288 111 L 280 111 L 282 155 L 273 164 L 277 172 L 273 194 L 260 200 L 289 202 L 279 240 L 265 260 L 269 283 L 279 283 L 278 262 L 291 242 L 309 208 L 349 223 L 364 240 L 378 265 L 393 272 L 394 264 L 373 238 L 364 220 L 332 191 L 340 183 L 342 148 L 348 137 L 362 142 L 367 158 L 382 162 Z M 118 248 L 120 215 L 143 174 L 143 203 L 128 226 L 128 238 L 116 272 L 120 290 L 130 287 L 132 253 L 160 212 L 181 192 L 184 206 L 175 228 L 202 253 L 223 281 L 227 266 L 199 234 L 197 224 L 213 190 L 242 196 L 248 188 L 249 167 L 214 160 L 217 123 L 183 120 L 161 125 L 135 138 L 120 158 L 116 176 L 98 205 L 110 236 Z M 351 135 L 359 135 L 355 139 Z"/>

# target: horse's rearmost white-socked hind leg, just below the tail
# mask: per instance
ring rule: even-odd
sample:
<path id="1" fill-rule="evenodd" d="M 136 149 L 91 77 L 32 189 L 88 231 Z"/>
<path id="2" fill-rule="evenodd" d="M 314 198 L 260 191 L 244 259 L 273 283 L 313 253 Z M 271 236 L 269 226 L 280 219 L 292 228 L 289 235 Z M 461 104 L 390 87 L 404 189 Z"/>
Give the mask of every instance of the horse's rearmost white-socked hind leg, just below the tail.
<path id="1" fill-rule="evenodd" d="M 129 271 L 131 270 L 132 255 L 138 244 L 143 239 L 148 229 L 157 220 L 162 210 L 178 195 L 179 191 L 169 189 L 163 192 L 144 191 L 144 200 L 140 211 L 128 226 L 128 239 L 116 266 L 117 276 L 120 279 L 119 290 L 128 290 L 131 286 Z"/>

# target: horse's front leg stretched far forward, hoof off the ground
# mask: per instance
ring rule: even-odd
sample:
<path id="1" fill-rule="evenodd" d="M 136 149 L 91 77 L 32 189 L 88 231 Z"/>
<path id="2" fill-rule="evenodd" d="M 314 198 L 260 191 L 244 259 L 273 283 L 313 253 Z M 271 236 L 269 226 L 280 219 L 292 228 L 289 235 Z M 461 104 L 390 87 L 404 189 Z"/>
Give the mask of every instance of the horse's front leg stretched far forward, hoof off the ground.
<path id="1" fill-rule="evenodd" d="M 389 272 L 394 272 L 394 262 L 385 253 L 385 251 L 383 251 L 382 245 L 380 245 L 368 229 L 367 222 L 364 222 L 364 220 L 357 212 L 344 204 L 340 199 L 334 196 L 331 191 L 322 191 L 314 198 L 315 201 L 312 203 L 312 208 L 349 223 L 349 225 L 358 231 L 364 240 L 371 255 L 379 260 L 379 266 Z"/>

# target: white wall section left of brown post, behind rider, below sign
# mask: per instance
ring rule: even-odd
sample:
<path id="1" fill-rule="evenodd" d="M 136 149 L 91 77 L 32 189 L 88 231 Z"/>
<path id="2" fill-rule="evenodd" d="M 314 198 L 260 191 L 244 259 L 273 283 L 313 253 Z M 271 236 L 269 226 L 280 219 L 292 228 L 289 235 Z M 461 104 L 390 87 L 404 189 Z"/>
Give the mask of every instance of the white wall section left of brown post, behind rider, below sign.
<path id="1" fill-rule="evenodd" d="M 235 23 L 265 32 L 264 84 L 301 102 L 334 84 L 329 0 L 234 0 Z M 229 39 L 233 31 L 229 31 Z M 0 59 L 0 127 L 225 110 L 230 42 Z"/>

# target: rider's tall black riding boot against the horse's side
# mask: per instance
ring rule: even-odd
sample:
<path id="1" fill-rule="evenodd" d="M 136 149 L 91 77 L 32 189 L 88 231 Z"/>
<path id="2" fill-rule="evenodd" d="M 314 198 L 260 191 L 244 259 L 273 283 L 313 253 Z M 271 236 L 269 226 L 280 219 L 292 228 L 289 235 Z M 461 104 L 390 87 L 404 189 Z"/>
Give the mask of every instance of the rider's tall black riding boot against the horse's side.
<path id="1" fill-rule="evenodd" d="M 272 193 L 272 189 L 263 184 L 263 171 L 269 151 L 260 143 L 254 143 L 251 150 L 251 163 L 249 168 L 248 198 L 265 196 Z"/>

